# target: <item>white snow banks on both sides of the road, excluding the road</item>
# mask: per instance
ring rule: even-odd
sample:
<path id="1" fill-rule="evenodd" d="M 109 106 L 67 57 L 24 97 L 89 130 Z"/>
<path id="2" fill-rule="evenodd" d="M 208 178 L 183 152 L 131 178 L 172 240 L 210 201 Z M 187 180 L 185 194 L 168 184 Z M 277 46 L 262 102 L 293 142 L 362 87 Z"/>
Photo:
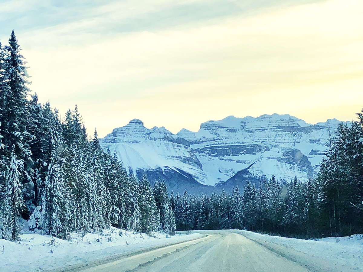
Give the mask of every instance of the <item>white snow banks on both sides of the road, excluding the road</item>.
<path id="1" fill-rule="evenodd" d="M 200 232 L 203 233 L 203 231 Z M 302 252 L 322 260 L 333 260 L 337 264 L 347 265 L 356 271 L 363 271 L 362 234 L 303 240 L 250 231 L 235 232 L 241 232 L 247 238 L 261 244 L 267 242 L 270 245 L 282 247 L 284 252 Z M 101 233 L 72 233 L 69 240 L 61 240 L 28 231 L 21 234 L 21 240 L 16 243 L 0 239 L 0 271 L 44 271 L 202 236 L 199 233 L 189 235 L 179 233 L 174 236 L 162 233 L 148 236 L 111 227 Z"/>

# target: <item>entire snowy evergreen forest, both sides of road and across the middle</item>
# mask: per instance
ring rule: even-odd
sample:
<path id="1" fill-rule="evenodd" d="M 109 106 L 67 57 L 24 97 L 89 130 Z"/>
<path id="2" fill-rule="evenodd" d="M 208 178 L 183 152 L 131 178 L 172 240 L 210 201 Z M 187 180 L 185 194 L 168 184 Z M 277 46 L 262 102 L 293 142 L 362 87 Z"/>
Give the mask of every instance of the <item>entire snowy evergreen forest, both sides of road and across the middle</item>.
<path id="1" fill-rule="evenodd" d="M 163 181 L 137 180 L 117 154 L 89 137 L 77 106 L 64 118 L 29 96 L 14 31 L 0 42 L 0 238 L 30 230 L 67 239 L 110 226 L 151 233 L 245 229 L 313 238 L 363 233 L 363 113 L 331 137 L 316 178 L 247 181 L 242 191 L 169 195 Z"/>

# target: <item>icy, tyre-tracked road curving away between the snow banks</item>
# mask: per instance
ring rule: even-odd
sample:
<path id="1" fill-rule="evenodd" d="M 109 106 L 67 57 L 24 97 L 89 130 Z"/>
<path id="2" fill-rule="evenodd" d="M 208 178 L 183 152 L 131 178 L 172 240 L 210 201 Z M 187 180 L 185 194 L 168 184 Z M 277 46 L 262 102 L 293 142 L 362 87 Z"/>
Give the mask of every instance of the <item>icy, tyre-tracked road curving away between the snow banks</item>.
<path id="1" fill-rule="evenodd" d="M 311 271 L 303 264 L 231 232 L 207 236 L 74 271 Z M 315 270 L 319 271 L 319 270 Z"/>

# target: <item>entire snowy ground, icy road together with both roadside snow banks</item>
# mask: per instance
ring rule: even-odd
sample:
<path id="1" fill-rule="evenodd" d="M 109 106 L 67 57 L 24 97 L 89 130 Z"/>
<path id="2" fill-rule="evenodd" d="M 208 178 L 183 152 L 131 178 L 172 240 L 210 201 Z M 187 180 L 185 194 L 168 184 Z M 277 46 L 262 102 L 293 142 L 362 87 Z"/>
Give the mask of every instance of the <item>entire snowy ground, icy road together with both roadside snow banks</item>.
<path id="1" fill-rule="evenodd" d="M 0 239 L 0 272 L 81 271 L 81 267 L 88 271 L 363 271 L 362 234 L 317 240 L 242 230 L 186 234 L 147 236 L 112 227 L 72 233 L 69 240 L 61 240 L 24 233 L 19 242 Z"/>

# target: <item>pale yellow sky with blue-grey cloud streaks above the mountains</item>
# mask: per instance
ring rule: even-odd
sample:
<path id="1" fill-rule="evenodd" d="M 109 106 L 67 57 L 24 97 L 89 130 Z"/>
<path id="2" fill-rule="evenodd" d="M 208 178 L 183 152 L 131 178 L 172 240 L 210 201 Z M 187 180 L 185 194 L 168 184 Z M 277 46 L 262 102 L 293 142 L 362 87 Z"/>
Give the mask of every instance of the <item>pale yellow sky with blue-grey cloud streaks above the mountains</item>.
<path id="1" fill-rule="evenodd" d="M 99 137 L 290 114 L 355 120 L 363 107 L 361 0 L 0 0 L 30 89 Z"/>

